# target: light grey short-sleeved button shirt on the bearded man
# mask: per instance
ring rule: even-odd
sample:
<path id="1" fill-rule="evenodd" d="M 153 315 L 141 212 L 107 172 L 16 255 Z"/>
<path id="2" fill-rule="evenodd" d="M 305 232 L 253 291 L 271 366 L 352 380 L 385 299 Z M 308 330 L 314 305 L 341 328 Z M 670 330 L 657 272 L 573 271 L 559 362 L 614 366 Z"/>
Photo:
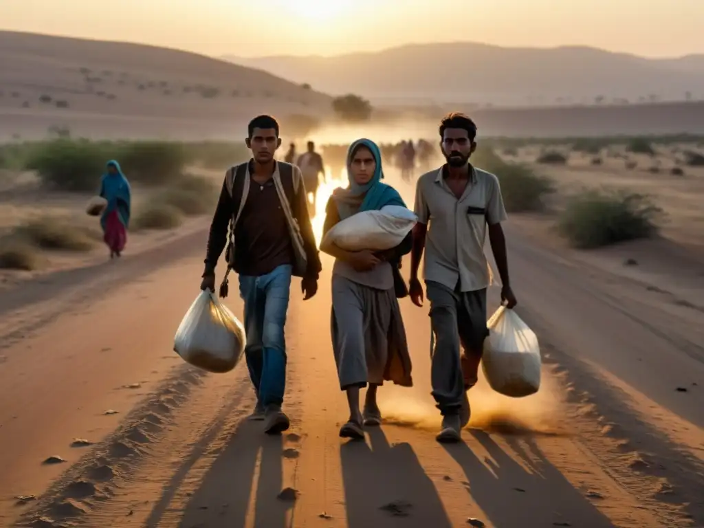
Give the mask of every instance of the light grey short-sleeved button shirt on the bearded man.
<path id="1" fill-rule="evenodd" d="M 423 277 L 450 289 L 477 291 L 492 282 L 484 254 L 486 225 L 506 220 L 498 178 L 472 167 L 460 199 L 443 177 L 443 168 L 422 175 L 415 189 L 415 214 L 428 226 Z"/>

